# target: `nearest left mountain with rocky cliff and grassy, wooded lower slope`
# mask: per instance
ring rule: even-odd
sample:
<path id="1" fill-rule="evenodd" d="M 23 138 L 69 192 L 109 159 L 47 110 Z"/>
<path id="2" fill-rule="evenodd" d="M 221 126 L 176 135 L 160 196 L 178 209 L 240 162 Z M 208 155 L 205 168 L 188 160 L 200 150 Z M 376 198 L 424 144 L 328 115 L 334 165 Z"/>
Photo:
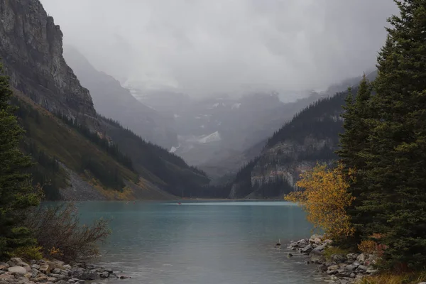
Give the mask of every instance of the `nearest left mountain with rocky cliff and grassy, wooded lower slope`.
<path id="1" fill-rule="evenodd" d="M 170 199 L 207 176 L 94 110 L 62 57 L 62 32 L 38 0 L 0 0 L 0 57 L 26 129 L 23 151 L 49 199 Z"/>

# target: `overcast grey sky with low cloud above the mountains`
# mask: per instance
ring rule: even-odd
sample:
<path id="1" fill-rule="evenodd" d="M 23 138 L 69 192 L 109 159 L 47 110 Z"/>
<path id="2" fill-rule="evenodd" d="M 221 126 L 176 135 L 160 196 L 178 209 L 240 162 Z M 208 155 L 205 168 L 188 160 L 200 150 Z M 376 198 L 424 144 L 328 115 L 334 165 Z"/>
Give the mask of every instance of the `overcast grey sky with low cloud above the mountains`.
<path id="1" fill-rule="evenodd" d="M 194 96 L 324 89 L 361 75 L 392 0 L 41 0 L 98 70 Z"/>

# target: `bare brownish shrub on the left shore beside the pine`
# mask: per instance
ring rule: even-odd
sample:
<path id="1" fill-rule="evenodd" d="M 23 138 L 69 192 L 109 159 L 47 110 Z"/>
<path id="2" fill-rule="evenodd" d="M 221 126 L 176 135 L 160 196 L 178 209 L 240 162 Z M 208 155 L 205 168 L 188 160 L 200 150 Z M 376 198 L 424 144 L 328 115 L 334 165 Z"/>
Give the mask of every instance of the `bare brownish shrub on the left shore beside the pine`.
<path id="1" fill-rule="evenodd" d="M 91 226 L 81 225 L 73 203 L 38 207 L 28 214 L 25 223 L 43 247 L 43 255 L 62 261 L 98 256 L 97 244 L 111 234 L 105 219 L 98 219 Z"/>

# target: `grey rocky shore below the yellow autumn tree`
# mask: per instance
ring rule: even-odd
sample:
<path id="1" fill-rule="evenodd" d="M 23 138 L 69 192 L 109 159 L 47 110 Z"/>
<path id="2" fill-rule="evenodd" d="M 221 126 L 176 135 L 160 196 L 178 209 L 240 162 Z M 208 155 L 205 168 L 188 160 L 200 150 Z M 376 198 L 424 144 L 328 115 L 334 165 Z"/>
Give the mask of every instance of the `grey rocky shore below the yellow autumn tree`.
<path id="1" fill-rule="evenodd" d="M 332 254 L 329 259 L 324 251 L 332 246 L 332 240 L 323 239 L 323 236 L 313 235 L 310 239 L 301 239 L 291 243 L 288 249 L 298 251 L 308 256 L 306 263 L 317 264 L 318 270 L 329 275 L 327 282 L 334 284 L 356 283 L 366 275 L 373 275 L 377 270 L 373 268 L 376 256 L 367 253 Z M 293 256 L 288 253 L 288 256 Z"/>

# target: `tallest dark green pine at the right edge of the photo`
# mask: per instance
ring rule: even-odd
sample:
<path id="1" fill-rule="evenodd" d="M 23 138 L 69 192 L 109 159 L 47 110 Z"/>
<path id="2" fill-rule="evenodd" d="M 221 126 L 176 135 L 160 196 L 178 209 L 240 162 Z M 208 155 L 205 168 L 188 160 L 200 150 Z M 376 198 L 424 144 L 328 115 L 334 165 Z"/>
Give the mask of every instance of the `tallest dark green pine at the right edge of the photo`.
<path id="1" fill-rule="evenodd" d="M 378 56 L 372 126 L 359 210 L 364 234 L 383 234 L 388 267 L 426 263 L 426 1 L 395 1 Z"/>

